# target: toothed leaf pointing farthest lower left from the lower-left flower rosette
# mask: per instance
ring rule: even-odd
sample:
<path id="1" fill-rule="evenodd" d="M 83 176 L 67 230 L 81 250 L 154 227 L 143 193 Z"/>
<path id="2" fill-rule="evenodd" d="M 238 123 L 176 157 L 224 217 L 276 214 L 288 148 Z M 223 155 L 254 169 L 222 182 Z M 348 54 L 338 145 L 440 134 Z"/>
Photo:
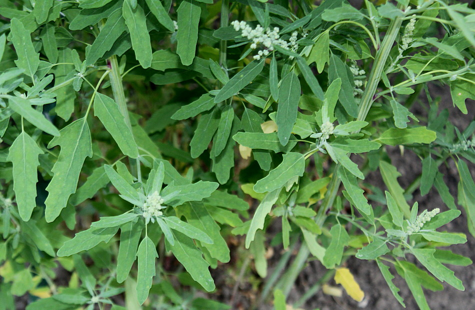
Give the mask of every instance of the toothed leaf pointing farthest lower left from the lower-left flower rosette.
<path id="1" fill-rule="evenodd" d="M 74 238 L 64 242 L 64 244 L 58 249 L 57 255 L 70 256 L 80 251 L 85 251 L 96 246 L 100 242 L 109 242 L 109 240 L 115 235 L 118 227 L 107 228 L 89 228 L 87 230 L 78 232 L 74 235 Z"/>

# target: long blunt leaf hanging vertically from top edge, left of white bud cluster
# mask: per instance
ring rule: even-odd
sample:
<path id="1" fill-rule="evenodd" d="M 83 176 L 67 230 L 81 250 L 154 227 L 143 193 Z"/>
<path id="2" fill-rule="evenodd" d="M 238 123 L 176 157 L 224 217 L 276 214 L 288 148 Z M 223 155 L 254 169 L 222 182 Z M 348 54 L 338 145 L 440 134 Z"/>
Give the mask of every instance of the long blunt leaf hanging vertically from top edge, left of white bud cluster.
<path id="1" fill-rule="evenodd" d="M 190 65 L 193 62 L 196 43 L 198 41 L 199 16 L 201 7 L 194 0 L 183 0 L 178 9 L 176 33 L 176 53 L 180 56 L 181 63 Z M 219 102 L 219 101 L 214 101 Z"/>

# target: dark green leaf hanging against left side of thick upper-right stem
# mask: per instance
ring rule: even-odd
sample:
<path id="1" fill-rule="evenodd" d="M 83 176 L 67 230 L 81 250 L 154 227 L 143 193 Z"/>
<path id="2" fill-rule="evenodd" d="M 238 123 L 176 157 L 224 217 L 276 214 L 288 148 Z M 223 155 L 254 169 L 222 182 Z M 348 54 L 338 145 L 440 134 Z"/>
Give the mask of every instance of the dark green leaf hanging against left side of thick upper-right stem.
<path id="1" fill-rule="evenodd" d="M 347 66 L 335 54 L 331 54 L 330 57 L 328 77 L 330 81 L 341 78 L 341 88 L 339 88 L 338 99 L 346 113 L 356 117 L 358 115 L 358 105 L 354 100 L 353 83 L 347 73 Z"/>

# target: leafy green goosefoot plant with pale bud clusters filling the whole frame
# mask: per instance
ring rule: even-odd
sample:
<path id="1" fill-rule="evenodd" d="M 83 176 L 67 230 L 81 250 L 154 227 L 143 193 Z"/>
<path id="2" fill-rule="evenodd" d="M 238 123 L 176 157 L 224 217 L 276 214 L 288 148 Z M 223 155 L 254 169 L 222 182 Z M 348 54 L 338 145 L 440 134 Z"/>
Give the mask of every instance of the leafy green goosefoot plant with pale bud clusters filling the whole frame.
<path id="1" fill-rule="evenodd" d="M 29 293 L 40 299 L 28 309 L 119 309 L 121 296 L 128 308 L 229 308 L 193 292 L 215 290 L 209 267 L 230 260 L 231 234 L 245 235 L 258 302 L 273 290 L 276 307 L 310 255 L 358 301 L 364 292 L 343 266 L 352 255 L 375 260 L 403 306 L 388 264 L 420 308 L 422 287 L 463 290 L 444 264 L 471 260 L 438 248 L 466 242 L 436 231 L 460 215 L 438 167 L 455 162 L 475 235 L 475 122 L 452 125 L 428 85 L 447 84 L 453 109 L 468 113 L 475 10 L 445 0 L 365 0 L 359 10 L 346 0 L 212 2 L 0 1 L 5 307 Z M 390 146 L 421 159 L 415 186 L 400 185 Z M 376 170 L 387 190 L 361 184 Z M 432 188 L 446 206 L 409 206 Z M 243 198 L 259 201 L 250 218 Z M 286 252 L 266 277 L 276 218 L 270 246 Z M 171 254 L 185 272 L 167 269 Z M 72 272 L 67 287 L 58 265 Z"/>

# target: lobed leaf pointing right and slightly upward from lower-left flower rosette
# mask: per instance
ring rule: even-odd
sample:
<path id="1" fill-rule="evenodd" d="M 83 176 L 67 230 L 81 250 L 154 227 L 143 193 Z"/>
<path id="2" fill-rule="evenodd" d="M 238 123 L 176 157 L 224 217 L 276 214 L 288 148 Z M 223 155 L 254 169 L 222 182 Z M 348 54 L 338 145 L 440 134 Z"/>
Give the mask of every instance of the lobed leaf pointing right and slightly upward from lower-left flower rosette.
<path id="1" fill-rule="evenodd" d="M 163 188 L 161 196 L 176 192 L 165 203 L 171 206 L 177 206 L 187 201 L 200 201 L 209 197 L 211 193 L 219 186 L 216 182 L 198 181 L 187 185 L 168 185 Z"/>

